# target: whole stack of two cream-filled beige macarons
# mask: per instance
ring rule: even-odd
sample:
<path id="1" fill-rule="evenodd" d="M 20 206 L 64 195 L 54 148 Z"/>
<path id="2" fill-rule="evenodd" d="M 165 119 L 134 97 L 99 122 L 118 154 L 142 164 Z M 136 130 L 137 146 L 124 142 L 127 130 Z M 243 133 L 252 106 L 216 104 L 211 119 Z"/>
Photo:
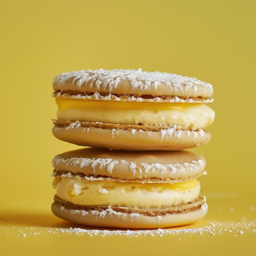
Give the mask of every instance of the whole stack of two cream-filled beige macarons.
<path id="1" fill-rule="evenodd" d="M 207 213 L 197 178 L 215 113 L 209 83 L 139 70 L 54 78 L 54 136 L 82 149 L 53 159 L 53 213 L 98 227 L 185 225 Z"/>

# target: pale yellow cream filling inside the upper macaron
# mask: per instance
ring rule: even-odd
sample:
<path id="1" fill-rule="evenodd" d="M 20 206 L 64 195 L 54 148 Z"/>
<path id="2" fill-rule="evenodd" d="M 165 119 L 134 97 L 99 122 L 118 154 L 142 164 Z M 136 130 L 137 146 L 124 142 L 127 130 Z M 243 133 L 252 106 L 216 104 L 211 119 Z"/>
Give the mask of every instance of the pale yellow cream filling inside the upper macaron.
<path id="1" fill-rule="evenodd" d="M 153 126 L 182 126 L 204 129 L 213 123 L 215 112 L 203 103 L 102 101 L 56 98 L 57 119 Z"/>

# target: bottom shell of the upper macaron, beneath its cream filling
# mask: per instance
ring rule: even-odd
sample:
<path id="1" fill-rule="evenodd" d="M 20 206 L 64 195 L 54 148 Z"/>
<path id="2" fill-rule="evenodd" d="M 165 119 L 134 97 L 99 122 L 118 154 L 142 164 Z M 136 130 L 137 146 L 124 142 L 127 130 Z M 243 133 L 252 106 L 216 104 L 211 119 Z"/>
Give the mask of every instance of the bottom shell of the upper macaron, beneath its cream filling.
<path id="1" fill-rule="evenodd" d="M 117 150 L 183 150 L 207 144 L 210 132 L 178 126 L 140 126 L 53 120 L 57 139 Z"/>

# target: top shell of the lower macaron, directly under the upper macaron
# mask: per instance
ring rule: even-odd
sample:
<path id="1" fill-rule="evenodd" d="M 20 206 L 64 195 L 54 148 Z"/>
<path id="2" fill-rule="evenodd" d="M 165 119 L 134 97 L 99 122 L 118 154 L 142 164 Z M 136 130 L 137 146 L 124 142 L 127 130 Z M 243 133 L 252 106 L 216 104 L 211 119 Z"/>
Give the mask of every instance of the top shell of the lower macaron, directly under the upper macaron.
<path id="1" fill-rule="evenodd" d="M 53 176 L 109 179 L 126 182 L 176 183 L 204 173 L 202 155 L 190 151 L 121 151 L 82 148 L 56 155 Z"/>

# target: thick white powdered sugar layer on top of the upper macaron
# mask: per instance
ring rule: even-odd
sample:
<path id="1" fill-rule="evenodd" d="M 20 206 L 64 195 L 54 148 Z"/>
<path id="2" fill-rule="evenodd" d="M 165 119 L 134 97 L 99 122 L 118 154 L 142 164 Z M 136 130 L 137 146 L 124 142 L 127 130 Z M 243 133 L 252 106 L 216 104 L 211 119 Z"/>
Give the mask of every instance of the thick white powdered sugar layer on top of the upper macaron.
<path id="1" fill-rule="evenodd" d="M 195 78 L 180 76 L 177 74 L 163 72 L 146 72 L 141 68 L 137 70 L 81 70 L 76 72 L 63 73 L 54 78 L 53 83 L 60 86 L 64 85 L 67 80 L 72 79 L 72 85 L 76 83 L 78 88 L 83 84 L 89 84 L 92 88 L 93 83 L 96 84 L 97 90 L 107 88 L 110 92 L 118 88 L 120 81 L 130 81 L 132 90 L 157 90 L 159 85 L 164 85 L 172 88 L 175 92 L 188 91 L 190 88 L 196 91 L 195 85 L 204 85 L 207 90 L 212 91 L 212 85 L 202 82 Z"/>

